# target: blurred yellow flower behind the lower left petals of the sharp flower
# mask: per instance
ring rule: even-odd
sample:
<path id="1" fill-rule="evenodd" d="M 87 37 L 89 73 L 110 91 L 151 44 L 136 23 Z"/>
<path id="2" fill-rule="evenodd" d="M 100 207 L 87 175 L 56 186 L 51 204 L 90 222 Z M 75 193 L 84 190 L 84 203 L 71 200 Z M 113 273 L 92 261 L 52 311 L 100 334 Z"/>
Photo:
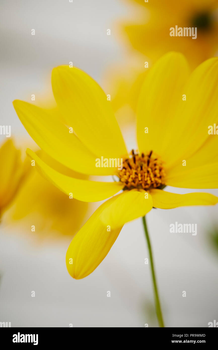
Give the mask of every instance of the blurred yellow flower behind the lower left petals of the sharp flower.
<path id="1" fill-rule="evenodd" d="M 37 152 L 47 164 L 58 171 L 68 175 L 86 179 L 87 176 L 73 172 L 50 159 L 42 151 Z M 40 239 L 54 239 L 61 236 L 74 235 L 81 227 L 89 204 L 75 199 L 69 199 L 62 191 L 45 180 L 34 166 L 29 164 L 28 176 L 23 181 L 19 193 L 16 195 L 14 205 L 8 211 L 5 222 L 16 224 L 24 232 L 31 232 L 35 226 L 34 234 Z"/>

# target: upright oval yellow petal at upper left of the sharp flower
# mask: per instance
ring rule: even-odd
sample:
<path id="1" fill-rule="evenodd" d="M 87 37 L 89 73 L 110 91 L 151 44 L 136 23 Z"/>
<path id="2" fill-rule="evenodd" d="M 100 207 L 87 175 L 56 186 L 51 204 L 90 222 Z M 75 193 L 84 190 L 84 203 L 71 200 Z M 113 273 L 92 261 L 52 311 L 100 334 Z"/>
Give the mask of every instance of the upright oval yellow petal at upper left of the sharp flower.
<path id="1" fill-rule="evenodd" d="M 127 153 L 110 102 L 89 75 L 78 68 L 56 67 L 52 89 L 68 125 L 98 158 L 121 158 Z"/>

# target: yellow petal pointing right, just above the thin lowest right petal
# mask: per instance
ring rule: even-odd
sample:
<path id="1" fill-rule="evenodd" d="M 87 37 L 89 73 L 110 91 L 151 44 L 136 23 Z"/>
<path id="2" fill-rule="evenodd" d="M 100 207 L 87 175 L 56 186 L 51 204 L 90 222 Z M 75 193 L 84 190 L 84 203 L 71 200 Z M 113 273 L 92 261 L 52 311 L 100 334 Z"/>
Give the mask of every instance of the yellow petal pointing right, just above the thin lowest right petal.
<path id="1" fill-rule="evenodd" d="M 177 167 L 165 179 L 166 185 L 182 188 L 218 188 L 218 162 L 192 168 L 187 162 L 186 166 Z"/>

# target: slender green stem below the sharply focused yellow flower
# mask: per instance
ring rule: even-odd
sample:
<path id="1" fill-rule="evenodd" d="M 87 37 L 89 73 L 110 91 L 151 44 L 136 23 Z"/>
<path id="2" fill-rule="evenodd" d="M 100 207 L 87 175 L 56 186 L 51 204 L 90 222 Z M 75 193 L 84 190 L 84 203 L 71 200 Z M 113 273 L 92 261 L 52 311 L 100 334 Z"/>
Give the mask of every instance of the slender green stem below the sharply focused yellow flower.
<path id="1" fill-rule="evenodd" d="M 159 326 L 160 327 L 164 327 L 163 317 L 162 317 L 162 312 L 161 312 L 161 304 L 160 304 L 160 301 L 159 301 L 156 277 L 155 277 L 155 272 L 154 272 L 154 262 L 153 262 L 153 256 L 152 256 L 152 247 L 151 247 L 150 239 L 149 239 L 149 236 L 148 236 L 148 229 L 147 229 L 147 225 L 146 225 L 146 218 L 145 218 L 145 216 L 143 216 L 142 222 L 143 222 L 143 226 L 144 226 L 144 229 L 145 229 L 145 236 L 146 236 L 147 243 L 148 243 L 148 251 L 149 251 L 149 257 L 150 257 L 150 266 L 151 266 L 151 270 L 152 270 L 152 281 L 153 281 L 153 288 L 154 288 L 154 300 L 155 300 L 157 320 L 159 322 Z"/>

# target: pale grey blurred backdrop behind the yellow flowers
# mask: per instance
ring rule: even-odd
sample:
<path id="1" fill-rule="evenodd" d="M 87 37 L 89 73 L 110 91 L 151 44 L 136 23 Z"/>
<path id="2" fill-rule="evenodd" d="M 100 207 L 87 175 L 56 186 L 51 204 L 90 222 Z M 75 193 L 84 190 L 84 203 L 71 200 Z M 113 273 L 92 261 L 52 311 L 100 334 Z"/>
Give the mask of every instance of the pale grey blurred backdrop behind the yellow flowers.
<path id="1" fill-rule="evenodd" d="M 28 100 L 44 89 L 53 66 L 73 61 L 101 82 L 105 68 L 125 62 L 126 51 L 118 44 L 114 26 L 128 15 L 121 1 L 1 0 L 0 10 L 0 124 L 12 125 L 17 141 L 27 133 L 12 101 Z M 111 36 L 106 35 L 107 28 Z M 210 192 L 218 195 L 217 190 Z M 211 250 L 207 233 L 211 223 L 218 223 L 217 208 L 152 210 L 147 220 L 166 326 L 207 327 L 218 321 L 218 255 Z M 197 223 L 197 235 L 169 233 L 175 221 Z M 157 326 L 140 219 L 124 226 L 102 264 L 80 281 L 73 280 L 65 267 L 70 239 L 38 244 L 32 235 L 1 228 L 0 321 L 10 321 L 12 327 Z"/>

